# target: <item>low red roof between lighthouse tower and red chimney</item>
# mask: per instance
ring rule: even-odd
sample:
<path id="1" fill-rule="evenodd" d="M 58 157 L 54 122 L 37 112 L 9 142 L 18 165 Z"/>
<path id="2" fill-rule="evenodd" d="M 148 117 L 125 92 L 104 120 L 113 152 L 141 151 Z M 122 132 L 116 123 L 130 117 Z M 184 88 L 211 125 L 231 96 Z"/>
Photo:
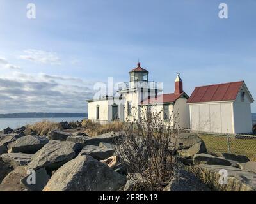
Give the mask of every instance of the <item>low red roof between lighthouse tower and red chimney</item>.
<path id="1" fill-rule="evenodd" d="M 141 102 L 142 105 L 148 105 L 148 104 L 154 104 L 154 103 L 173 103 L 176 101 L 180 96 L 182 96 L 183 93 L 181 94 L 162 94 L 156 97 L 150 97 L 150 99 L 145 99 L 145 101 Z"/>

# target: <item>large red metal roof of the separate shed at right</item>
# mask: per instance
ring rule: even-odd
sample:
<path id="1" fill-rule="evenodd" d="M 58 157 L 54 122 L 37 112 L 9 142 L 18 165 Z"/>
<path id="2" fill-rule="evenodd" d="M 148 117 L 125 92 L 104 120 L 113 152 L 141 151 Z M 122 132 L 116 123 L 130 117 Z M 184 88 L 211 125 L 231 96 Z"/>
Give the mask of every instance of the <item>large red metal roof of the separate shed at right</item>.
<path id="1" fill-rule="evenodd" d="M 244 81 L 195 87 L 187 103 L 234 101 Z"/>

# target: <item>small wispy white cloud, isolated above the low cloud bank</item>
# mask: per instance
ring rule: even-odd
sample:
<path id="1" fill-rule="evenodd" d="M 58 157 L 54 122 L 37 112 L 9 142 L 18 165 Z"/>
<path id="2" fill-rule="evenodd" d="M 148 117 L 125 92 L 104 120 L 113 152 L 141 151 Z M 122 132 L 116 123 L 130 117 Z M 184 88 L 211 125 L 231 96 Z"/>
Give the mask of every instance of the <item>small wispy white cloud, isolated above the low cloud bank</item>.
<path id="1" fill-rule="evenodd" d="M 45 52 L 43 50 L 24 50 L 24 55 L 20 55 L 19 59 L 24 59 L 40 64 L 61 65 L 61 59 L 56 52 Z"/>

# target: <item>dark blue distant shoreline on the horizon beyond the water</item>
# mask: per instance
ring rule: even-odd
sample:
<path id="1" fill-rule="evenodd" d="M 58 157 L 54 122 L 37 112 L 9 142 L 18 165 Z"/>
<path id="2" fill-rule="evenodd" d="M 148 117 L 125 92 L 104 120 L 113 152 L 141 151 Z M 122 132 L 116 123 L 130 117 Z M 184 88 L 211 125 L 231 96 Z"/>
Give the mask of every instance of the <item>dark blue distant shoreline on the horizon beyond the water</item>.
<path id="1" fill-rule="evenodd" d="M 19 118 L 69 118 L 69 117 L 88 117 L 87 113 L 10 113 L 0 114 L 0 119 L 19 119 Z"/>

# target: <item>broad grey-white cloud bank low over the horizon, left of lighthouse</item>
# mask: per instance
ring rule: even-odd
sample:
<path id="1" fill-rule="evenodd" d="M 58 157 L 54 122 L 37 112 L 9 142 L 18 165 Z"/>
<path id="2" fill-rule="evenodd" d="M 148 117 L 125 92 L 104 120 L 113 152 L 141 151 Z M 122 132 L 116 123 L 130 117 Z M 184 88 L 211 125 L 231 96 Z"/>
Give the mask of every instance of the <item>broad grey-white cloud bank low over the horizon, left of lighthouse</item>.
<path id="1" fill-rule="evenodd" d="M 44 73 L 0 76 L 0 113 L 87 112 L 93 82 Z"/>

